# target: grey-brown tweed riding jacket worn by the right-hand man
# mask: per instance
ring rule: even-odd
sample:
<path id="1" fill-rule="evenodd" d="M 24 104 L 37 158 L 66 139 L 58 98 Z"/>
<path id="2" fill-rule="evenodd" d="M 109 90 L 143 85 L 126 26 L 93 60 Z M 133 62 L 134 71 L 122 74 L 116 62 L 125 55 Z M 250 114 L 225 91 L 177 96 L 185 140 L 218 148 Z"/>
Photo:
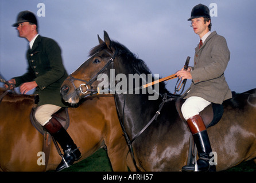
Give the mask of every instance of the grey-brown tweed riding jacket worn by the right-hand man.
<path id="1" fill-rule="evenodd" d="M 195 48 L 194 66 L 191 67 L 192 83 L 188 95 L 197 96 L 215 104 L 222 104 L 232 97 L 224 77 L 230 51 L 226 39 L 212 32 L 203 46 Z"/>

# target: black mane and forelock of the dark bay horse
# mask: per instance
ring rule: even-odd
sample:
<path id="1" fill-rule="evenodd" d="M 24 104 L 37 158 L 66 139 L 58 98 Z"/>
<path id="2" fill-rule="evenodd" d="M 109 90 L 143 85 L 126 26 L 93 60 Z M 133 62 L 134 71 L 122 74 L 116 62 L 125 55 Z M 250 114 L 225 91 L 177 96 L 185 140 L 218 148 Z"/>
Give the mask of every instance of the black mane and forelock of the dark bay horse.
<path id="1" fill-rule="evenodd" d="M 127 49 L 126 46 L 115 41 L 111 41 L 111 46 L 114 46 L 116 49 L 119 50 L 119 52 L 121 53 L 119 55 L 122 57 L 123 61 L 129 61 L 131 68 L 133 68 L 133 73 L 152 74 L 146 63 L 142 59 L 139 59 L 136 54 L 132 53 L 129 49 Z M 106 43 L 101 43 L 100 45 L 93 47 L 90 51 L 90 57 L 104 49 L 107 49 Z M 166 89 L 164 82 L 159 83 L 159 90 L 161 94 L 167 93 L 168 95 L 172 95 Z"/>

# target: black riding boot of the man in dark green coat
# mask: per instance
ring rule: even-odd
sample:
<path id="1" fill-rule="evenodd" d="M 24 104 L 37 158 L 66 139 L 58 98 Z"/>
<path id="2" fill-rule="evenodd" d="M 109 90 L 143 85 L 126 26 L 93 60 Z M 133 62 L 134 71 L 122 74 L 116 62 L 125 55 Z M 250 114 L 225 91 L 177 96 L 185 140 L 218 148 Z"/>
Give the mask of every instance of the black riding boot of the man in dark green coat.
<path id="1" fill-rule="evenodd" d="M 65 168 L 68 168 L 73 164 L 73 162 L 79 160 L 81 157 L 79 149 L 59 121 L 57 121 L 55 118 L 51 118 L 51 120 L 44 125 L 44 128 L 57 142 L 59 142 L 64 152 L 63 160 L 57 166 L 56 171 L 59 172 Z"/>

